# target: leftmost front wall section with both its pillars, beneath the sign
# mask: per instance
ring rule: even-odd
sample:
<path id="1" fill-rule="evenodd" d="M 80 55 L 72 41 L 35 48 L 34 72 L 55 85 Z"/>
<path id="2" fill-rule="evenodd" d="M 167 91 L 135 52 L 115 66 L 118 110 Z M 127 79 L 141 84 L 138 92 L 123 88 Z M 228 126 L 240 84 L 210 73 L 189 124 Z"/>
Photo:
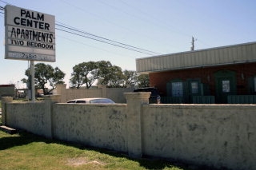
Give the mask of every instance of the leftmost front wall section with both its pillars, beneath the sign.
<path id="1" fill-rule="evenodd" d="M 38 102 L 12 102 L 12 97 L 2 97 L 2 124 L 52 138 L 52 104 L 59 98 L 55 95 Z"/>

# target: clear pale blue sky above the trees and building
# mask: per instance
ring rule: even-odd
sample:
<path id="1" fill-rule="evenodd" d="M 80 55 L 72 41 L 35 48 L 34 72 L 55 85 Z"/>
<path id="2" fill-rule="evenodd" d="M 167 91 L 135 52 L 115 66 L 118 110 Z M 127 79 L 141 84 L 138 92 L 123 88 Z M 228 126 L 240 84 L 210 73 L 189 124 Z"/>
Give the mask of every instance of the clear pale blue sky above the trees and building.
<path id="1" fill-rule="evenodd" d="M 0 0 L 0 6 L 6 4 L 51 14 L 62 26 L 154 52 L 138 53 L 55 30 L 56 61 L 44 63 L 66 73 L 67 86 L 74 65 L 84 61 L 110 61 L 122 70 L 136 70 L 136 58 L 189 51 L 192 37 L 195 50 L 256 42 L 254 0 Z M 4 57 L 3 13 L 0 85 L 26 88 L 21 79 L 29 62 Z"/>

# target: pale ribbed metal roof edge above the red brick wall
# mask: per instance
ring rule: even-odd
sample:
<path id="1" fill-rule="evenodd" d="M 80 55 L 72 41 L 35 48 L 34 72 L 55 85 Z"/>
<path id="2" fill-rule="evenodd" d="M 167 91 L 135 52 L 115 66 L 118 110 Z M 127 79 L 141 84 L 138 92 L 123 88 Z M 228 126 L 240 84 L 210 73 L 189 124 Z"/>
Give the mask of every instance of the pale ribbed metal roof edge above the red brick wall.
<path id="1" fill-rule="evenodd" d="M 138 73 L 256 61 L 256 42 L 136 59 Z"/>

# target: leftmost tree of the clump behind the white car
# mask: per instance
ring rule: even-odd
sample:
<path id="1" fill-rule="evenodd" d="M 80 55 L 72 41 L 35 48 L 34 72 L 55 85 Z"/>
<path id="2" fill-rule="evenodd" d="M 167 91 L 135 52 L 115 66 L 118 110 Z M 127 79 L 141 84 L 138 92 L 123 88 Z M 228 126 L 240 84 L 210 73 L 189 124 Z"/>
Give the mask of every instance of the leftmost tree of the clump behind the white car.
<path id="1" fill-rule="evenodd" d="M 71 87 L 79 89 L 86 84 L 86 88 L 89 89 L 94 81 L 98 79 L 97 68 L 97 62 L 94 61 L 74 65 L 70 78 Z"/>

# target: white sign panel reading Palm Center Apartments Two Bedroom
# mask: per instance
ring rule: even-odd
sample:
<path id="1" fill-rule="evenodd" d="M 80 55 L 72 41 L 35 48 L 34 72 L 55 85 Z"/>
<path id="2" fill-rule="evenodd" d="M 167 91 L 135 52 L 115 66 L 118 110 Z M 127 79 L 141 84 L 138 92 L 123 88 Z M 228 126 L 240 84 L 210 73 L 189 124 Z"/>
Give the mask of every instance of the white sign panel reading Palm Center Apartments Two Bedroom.
<path id="1" fill-rule="evenodd" d="M 5 6 L 6 59 L 56 61 L 55 17 Z"/>

